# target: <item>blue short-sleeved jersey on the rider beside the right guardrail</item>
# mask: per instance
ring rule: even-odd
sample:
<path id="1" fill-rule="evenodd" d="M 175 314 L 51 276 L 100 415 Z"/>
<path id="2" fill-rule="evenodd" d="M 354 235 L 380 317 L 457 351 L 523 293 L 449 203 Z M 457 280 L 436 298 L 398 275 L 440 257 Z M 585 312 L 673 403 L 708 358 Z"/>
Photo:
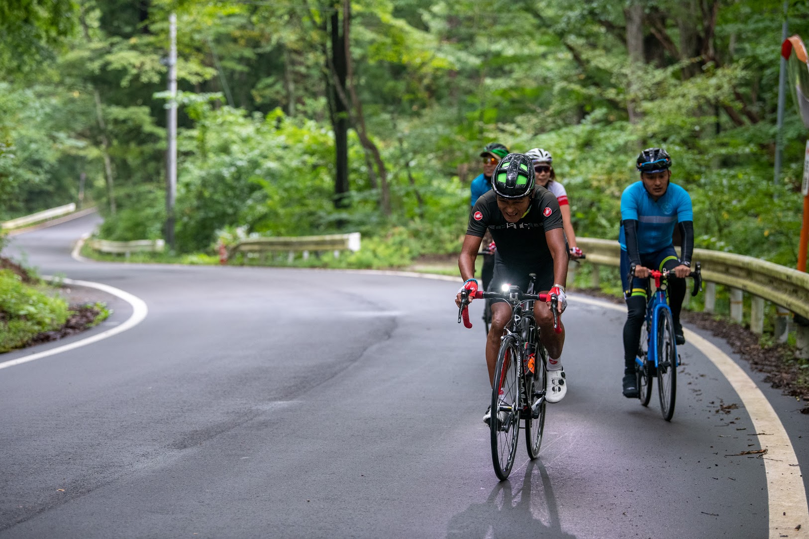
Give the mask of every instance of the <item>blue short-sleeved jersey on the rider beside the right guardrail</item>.
<path id="1" fill-rule="evenodd" d="M 637 221 L 637 247 L 641 254 L 654 253 L 671 245 L 671 234 L 678 221 L 693 221 L 691 196 L 679 185 L 669 183 L 666 192 L 654 200 L 643 182 L 638 181 L 624 189 L 621 195 L 621 221 Z M 618 238 L 626 251 L 624 226 Z"/>

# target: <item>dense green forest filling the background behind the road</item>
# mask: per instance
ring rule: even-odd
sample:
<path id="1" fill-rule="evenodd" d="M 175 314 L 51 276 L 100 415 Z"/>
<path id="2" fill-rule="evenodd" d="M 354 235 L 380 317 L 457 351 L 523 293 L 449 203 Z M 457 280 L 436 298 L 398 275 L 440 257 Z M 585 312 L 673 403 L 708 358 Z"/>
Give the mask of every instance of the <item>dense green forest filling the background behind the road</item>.
<path id="1" fill-rule="evenodd" d="M 553 153 L 578 235 L 616 238 L 658 145 L 697 246 L 797 258 L 809 133 L 788 101 L 773 179 L 773 0 L 5 0 L 0 219 L 85 178 L 105 238 L 163 237 L 172 12 L 180 252 L 355 230 L 370 265 L 458 251 L 499 141 Z M 790 34 L 807 15 L 790 2 Z"/>

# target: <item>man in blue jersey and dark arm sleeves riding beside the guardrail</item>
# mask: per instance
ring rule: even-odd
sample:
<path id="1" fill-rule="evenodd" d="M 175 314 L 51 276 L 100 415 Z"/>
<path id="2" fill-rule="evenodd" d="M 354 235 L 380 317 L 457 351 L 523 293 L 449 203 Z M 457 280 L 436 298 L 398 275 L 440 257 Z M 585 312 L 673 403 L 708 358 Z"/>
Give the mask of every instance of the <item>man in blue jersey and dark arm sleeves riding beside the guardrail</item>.
<path id="1" fill-rule="evenodd" d="M 637 398 L 635 356 L 646 316 L 646 279 L 649 270 L 673 272 L 668 281 L 668 302 L 677 344 L 684 344 L 680 309 L 685 297 L 685 277 L 691 272 L 694 247 L 694 214 L 691 196 L 671 183 L 671 157 L 660 148 L 644 149 L 637 156 L 641 180 L 626 187 L 621 195 L 621 280 L 629 313 L 624 325 L 624 381 L 627 398 Z M 672 236 L 680 229 L 680 258 Z M 635 279 L 629 290 L 629 269 L 635 264 Z"/>

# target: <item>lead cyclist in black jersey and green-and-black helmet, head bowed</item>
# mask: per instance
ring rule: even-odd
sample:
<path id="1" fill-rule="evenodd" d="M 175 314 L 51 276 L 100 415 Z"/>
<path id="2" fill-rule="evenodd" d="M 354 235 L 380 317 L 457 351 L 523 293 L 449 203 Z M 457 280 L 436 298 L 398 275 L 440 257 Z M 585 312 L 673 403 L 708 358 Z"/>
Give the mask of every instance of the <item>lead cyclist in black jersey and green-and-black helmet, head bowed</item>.
<path id="1" fill-rule="evenodd" d="M 458 258 L 460 275 L 470 292 L 477 291 L 475 258 L 486 230 L 492 234 L 498 249 L 494 259 L 492 289 L 503 284 L 515 284 L 525 291 L 528 274 L 536 273 L 537 292 L 556 294 L 558 311 L 567 305 L 565 280 L 567 279 L 568 249 L 562 229 L 562 217 L 556 196 L 534 181 L 534 166 L 524 154 L 508 154 L 495 169 L 492 190 L 481 196 L 469 217 L 464 246 Z M 460 291 L 455 303 L 460 307 Z M 494 366 L 503 328 L 510 319 L 510 306 L 506 301 L 492 305 L 492 326 L 486 341 L 486 364 L 489 383 L 493 383 Z M 534 316 L 541 328 L 540 339 L 549 352 L 548 402 L 559 402 L 565 396 L 565 371 L 561 366 L 561 352 L 565 343 L 564 326 L 561 333 L 553 331 L 550 301 L 534 303 Z M 489 419 L 489 411 L 484 421 Z"/>

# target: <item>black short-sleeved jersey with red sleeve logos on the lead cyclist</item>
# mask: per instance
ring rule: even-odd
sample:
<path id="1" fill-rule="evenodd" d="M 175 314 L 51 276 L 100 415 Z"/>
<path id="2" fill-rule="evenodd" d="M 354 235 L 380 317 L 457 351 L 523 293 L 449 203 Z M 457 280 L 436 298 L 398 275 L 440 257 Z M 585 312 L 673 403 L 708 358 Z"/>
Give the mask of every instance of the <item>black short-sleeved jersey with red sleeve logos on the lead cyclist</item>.
<path id="1" fill-rule="evenodd" d="M 497 194 L 493 191 L 477 199 L 466 233 L 483 238 L 486 229 L 497 244 L 498 258 L 506 264 L 532 265 L 553 263 L 553 256 L 545 240 L 545 232 L 561 229 L 559 203 L 552 192 L 536 186 L 528 213 L 516 223 L 506 221 L 498 208 Z M 529 246 L 536 248 L 530 249 Z"/>

